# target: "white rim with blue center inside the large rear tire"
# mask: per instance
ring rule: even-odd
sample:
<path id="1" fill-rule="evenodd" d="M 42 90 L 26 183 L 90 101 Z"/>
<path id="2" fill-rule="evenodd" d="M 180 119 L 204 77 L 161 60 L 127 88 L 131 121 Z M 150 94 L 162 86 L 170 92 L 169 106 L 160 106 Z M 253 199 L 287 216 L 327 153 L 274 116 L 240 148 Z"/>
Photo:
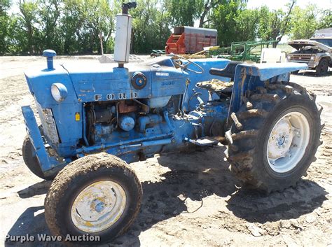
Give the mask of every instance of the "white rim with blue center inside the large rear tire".
<path id="1" fill-rule="evenodd" d="M 296 167 L 305 153 L 309 136 L 309 123 L 302 113 L 291 112 L 280 118 L 270 132 L 266 150 L 272 170 L 284 173 Z"/>

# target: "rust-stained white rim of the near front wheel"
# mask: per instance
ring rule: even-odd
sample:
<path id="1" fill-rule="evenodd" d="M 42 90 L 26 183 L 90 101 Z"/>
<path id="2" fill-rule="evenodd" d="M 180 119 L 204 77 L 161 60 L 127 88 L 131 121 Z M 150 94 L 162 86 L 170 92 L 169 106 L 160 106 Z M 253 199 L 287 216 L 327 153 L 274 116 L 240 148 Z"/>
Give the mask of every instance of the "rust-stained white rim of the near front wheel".
<path id="1" fill-rule="evenodd" d="M 99 181 L 84 188 L 71 206 L 71 220 L 84 232 L 100 232 L 111 227 L 125 211 L 123 188 L 113 181 Z"/>

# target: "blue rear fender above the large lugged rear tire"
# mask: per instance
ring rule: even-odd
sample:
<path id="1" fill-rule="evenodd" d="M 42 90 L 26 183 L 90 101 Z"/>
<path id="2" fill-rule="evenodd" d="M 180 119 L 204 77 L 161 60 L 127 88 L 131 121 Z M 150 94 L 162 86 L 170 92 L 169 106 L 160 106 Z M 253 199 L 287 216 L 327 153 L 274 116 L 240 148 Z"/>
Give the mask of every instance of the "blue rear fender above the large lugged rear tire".
<path id="1" fill-rule="evenodd" d="M 231 113 L 239 111 L 242 97 L 247 90 L 254 90 L 257 86 L 264 85 L 266 80 L 269 80 L 270 83 L 289 81 L 289 73 L 300 69 L 307 69 L 307 65 L 293 62 L 237 65 L 228 118 Z"/>

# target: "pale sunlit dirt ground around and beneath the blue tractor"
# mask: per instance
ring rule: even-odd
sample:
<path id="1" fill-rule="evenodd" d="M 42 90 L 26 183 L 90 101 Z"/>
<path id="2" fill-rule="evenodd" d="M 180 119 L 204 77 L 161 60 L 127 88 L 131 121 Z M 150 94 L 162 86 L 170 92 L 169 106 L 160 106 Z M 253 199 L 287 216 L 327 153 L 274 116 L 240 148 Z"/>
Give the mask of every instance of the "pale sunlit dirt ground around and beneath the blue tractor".
<path id="1" fill-rule="evenodd" d="M 97 63 L 57 59 L 56 63 Z M 49 234 L 43 200 L 50 185 L 22 160 L 25 137 L 20 106 L 34 100 L 23 71 L 46 66 L 42 57 L 0 57 L 0 243 L 6 234 Z M 110 246 L 332 246 L 332 71 L 291 76 L 324 106 L 323 145 L 296 188 L 269 196 L 247 191 L 228 171 L 223 146 L 205 152 L 156 156 L 130 164 L 144 198 L 134 225 Z M 61 246 L 39 242 L 38 246 Z"/>

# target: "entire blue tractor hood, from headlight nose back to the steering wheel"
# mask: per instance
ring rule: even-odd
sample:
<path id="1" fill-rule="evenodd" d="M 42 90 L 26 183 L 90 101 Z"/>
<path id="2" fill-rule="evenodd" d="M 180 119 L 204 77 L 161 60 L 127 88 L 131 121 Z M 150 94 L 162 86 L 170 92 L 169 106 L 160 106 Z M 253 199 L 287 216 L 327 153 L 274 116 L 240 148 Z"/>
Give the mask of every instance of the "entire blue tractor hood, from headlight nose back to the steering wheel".
<path id="1" fill-rule="evenodd" d="M 140 79 L 136 79 L 139 75 Z M 25 73 L 30 92 L 42 107 L 69 104 L 72 101 L 116 101 L 146 99 L 183 94 L 188 73 L 174 67 L 170 58 L 154 64 L 77 64 L 54 65 L 54 69 L 32 70 Z M 143 85 L 137 85 L 143 83 Z M 153 82 L 153 83 L 152 83 Z M 53 99 L 51 87 L 62 84 L 67 97 L 61 103 Z"/>

